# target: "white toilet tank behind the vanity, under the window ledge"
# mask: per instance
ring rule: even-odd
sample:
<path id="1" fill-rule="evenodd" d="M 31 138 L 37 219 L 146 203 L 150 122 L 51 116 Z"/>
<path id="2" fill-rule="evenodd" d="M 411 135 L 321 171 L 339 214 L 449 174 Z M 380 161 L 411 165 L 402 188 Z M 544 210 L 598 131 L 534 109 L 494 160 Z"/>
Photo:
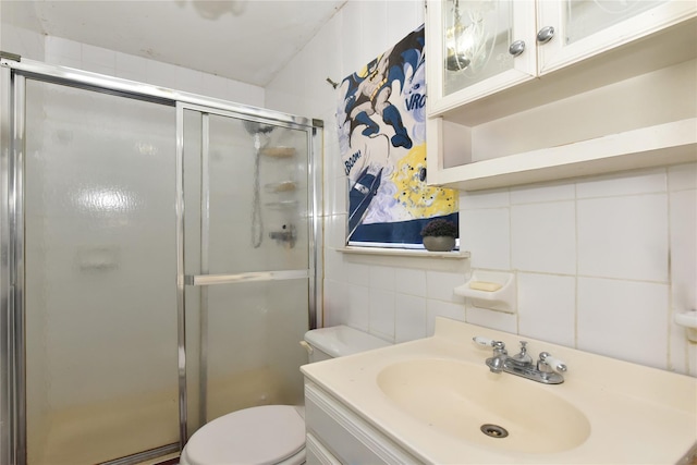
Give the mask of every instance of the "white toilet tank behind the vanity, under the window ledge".
<path id="1" fill-rule="evenodd" d="M 392 345 L 375 335 L 344 325 L 307 331 L 305 342 L 306 344 L 303 345 L 307 348 L 310 363 Z"/>

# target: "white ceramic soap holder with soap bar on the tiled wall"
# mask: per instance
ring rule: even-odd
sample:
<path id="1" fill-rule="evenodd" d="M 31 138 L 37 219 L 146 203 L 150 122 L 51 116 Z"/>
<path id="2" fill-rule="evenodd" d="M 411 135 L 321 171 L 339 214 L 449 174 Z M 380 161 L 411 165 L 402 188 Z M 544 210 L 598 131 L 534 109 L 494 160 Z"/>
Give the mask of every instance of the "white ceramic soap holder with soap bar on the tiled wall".
<path id="1" fill-rule="evenodd" d="M 466 283 L 454 289 L 454 293 L 469 298 L 475 307 L 516 313 L 514 273 L 476 270 Z"/>

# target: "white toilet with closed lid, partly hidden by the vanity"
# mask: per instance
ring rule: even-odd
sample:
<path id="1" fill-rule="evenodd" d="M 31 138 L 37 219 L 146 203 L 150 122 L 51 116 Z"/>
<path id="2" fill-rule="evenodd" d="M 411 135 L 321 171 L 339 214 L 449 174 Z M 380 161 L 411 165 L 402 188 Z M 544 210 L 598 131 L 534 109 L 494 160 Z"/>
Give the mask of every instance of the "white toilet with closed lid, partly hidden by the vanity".
<path id="1" fill-rule="evenodd" d="M 368 333 L 335 326 L 305 333 L 309 363 L 391 345 Z M 188 440 L 181 465 L 295 465 L 305 463 L 305 411 L 299 405 L 262 405 L 204 425 Z"/>

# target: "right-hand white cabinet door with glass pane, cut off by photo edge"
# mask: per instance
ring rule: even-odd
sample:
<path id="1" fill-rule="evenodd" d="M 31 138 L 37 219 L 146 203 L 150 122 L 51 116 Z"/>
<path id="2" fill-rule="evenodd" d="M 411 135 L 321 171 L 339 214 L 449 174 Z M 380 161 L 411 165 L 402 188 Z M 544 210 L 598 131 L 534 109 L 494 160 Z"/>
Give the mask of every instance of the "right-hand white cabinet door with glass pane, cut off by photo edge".
<path id="1" fill-rule="evenodd" d="M 695 1 L 684 0 L 539 1 L 538 30 L 554 29 L 552 39 L 539 45 L 539 74 L 657 33 L 696 10 Z"/>

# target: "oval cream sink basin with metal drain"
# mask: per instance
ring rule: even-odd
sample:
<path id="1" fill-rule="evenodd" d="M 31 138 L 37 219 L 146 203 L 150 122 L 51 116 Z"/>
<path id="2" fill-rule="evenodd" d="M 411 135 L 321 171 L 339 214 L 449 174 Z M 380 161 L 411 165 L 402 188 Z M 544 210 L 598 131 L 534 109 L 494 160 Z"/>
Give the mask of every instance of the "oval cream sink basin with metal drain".
<path id="1" fill-rule="evenodd" d="M 377 381 L 402 411 L 473 443 L 550 453 L 573 449 L 590 435 L 586 416 L 555 395 L 553 387 L 494 375 L 484 364 L 400 362 L 382 369 Z"/>

